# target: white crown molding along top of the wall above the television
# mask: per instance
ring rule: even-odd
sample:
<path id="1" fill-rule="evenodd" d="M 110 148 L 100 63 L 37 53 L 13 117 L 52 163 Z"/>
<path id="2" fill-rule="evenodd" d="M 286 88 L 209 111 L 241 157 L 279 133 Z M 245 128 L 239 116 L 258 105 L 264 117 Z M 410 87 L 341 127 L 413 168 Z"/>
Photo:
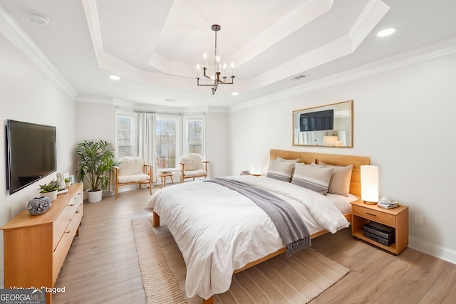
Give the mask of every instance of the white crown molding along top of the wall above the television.
<path id="1" fill-rule="evenodd" d="M 53 80 L 63 92 L 70 98 L 75 99 L 78 94 L 73 86 L 68 83 L 65 77 L 57 70 L 57 68 L 49 61 L 44 53 L 36 46 L 26 32 L 19 24 L 11 17 L 11 15 L 0 4 L 0 32 L 4 34 L 11 43 L 19 48 L 43 73 Z"/>

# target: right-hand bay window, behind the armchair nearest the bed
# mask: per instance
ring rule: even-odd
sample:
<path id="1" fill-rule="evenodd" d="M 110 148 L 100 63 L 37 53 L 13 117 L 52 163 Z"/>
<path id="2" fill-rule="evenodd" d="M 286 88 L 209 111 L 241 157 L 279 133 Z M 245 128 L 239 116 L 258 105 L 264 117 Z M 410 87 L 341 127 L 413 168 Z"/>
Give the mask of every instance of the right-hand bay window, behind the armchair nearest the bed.
<path id="1" fill-rule="evenodd" d="M 204 155 L 204 117 L 184 117 L 184 153 Z"/>

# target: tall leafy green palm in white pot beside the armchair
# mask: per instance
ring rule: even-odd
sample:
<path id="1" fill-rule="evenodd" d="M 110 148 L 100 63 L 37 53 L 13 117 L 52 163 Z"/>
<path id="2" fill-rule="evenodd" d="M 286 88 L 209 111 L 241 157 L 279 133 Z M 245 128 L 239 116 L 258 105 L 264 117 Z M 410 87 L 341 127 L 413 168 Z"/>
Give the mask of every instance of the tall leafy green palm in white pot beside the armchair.
<path id="1" fill-rule="evenodd" d="M 81 181 L 89 185 L 88 201 L 101 201 L 103 190 L 108 188 L 114 161 L 113 145 L 103 140 L 88 142 L 84 140 L 76 146 L 78 174 Z"/>

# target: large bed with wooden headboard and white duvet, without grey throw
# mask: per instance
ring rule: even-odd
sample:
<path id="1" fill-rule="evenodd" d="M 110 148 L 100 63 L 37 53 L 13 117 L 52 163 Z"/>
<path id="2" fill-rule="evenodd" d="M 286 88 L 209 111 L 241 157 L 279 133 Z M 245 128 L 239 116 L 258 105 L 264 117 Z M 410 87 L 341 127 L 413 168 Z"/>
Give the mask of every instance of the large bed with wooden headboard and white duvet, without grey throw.
<path id="1" fill-rule="evenodd" d="M 291 204 L 304 219 L 311 239 L 350 225 L 350 201 L 361 196 L 360 166 L 370 164 L 369 157 L 270 150 L 270 159 L 268 177 L 229 179 L 274 193 Z M 296 171 L 291 175 L 296 180 L 271 178 L 273 166 L 291 166 L 284 162 L 299 162 L 293 164 Z M 300 168 L 324 167 L 320 170 L 323 172 L 332 166 L 351 167 L 349 193 L 322 195 L 299 185 Z M 187 296 L 199 296 L 203 303 L 212 303 L 212 295 L 228 290 L 234 273 L 286 252 L 276 226 L 263 209 L 246 196 L 214 182 L 195 181 L 162 188 L 152 195 L 148 207 L 153 226 L 160 226 L 162 218 L 182 252 L 187 266 Z"/>

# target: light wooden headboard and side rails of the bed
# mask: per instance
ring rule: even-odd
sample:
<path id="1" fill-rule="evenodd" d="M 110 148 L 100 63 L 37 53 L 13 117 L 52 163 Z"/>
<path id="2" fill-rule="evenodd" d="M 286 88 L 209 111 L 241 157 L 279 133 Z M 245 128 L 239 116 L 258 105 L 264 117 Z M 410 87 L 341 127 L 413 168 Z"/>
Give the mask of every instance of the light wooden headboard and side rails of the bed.
<path id="1" fill-rule="evenodd" d="M 316 152 L 296 152 L 296 151 L 286 151 L 286 150 L 270 150 L 269 152 L 270 159 L 277 159 L 281 157 L 284 159 L 299 159 L 299 162 L 304 162 L 306 164 L 311 164 L 312 162 L 318 164 L 319 162 L 324 162 L 325 164 L 336 164 L 339 166 L 347 166 L 348 164 L 353 164 L 353 170 L 351 172 L 351 183 L 350 183 L 350 193 L 360 197 L 361 196 L 361 165 L 371 164 L 370 157 L 361 157 L 353 155 L 340 155 L 340 154 L 325 154 L 325 153 L 316 153 Z M 344 214 L 348 221 L 351 221 L 351 213 Z M 160 216 L 153 212 L 153 225 L 154 227 L 160 226 Z M 317 236 L 328 233 L 328 231 L 323 230 L 319 231 L 316 234 L 311 235 L 311 239 L 315 239 Z M 286 248 L 281 248 L 276 252 L 270 253 L 263 258 L 259 258 L 257 261 L 247 263 L 246 266 L 239 268 L 234 271 L 234 273 L 239 273 L 244 271 L 247 268 L 255 266 L 261 262 L 269 260 L 269 258 L 274 258 L 281 253 L 286 252 Z M 233 273 L 233 274 L 234 274 Z M 203 304 L 212 304 L 213 297 L 202 300 Z"/>

